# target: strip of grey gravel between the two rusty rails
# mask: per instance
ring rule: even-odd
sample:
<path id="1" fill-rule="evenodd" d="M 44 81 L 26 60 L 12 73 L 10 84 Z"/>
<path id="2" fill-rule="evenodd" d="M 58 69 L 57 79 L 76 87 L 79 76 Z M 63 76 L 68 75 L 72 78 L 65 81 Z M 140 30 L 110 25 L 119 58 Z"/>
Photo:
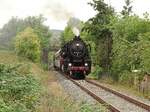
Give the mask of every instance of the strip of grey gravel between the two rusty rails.
<path id="1" fill-rule="evenodd" d="M 95 85 L 92 85 L 86 81 L 77 81 L 88 90 L 94 92 L 97 96 L 105 100 L 107 103 L 113 105 L 121 112 L 148 112 L 110 92 L 107 92 Z"/>

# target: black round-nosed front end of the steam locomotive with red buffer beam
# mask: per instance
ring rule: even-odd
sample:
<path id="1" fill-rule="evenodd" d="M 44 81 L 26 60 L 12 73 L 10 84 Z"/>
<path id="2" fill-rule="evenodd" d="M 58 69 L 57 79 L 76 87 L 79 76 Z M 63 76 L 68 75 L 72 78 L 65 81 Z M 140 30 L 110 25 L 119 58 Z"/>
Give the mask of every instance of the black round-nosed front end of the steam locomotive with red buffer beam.
<path id="1" fill-rule="evenodd" d="M 69 46 L 70 62 L 68 71 L 71 75 L 80 73 L 88 75 L 91 71 L 91 58 L 86 43 L 78 36 L 70 42 Z"/>

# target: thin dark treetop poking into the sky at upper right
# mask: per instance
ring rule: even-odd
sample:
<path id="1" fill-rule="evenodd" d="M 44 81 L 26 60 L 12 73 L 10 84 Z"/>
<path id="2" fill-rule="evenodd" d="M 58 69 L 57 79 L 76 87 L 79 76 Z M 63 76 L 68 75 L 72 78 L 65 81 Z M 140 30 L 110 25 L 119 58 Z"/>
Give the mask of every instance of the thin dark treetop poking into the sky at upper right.
<path id="1" fill-rule="evenodd" d="M 123 16 L 129 16 L 132 13 L 131 0 L 125 0 L 125 6 L 123 6 L 123 10 L 121 14 Z"/>

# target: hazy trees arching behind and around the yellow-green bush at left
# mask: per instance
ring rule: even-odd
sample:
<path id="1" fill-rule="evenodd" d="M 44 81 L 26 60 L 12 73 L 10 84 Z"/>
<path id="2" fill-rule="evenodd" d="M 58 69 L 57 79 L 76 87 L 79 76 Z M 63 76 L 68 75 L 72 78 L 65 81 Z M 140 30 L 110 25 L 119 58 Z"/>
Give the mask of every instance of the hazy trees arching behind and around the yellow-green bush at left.
<path id="1" fill-rule="evenodd" d="M 45 18 L 43 16 L 29 16 L 25 19 L 13 17 L 0 30 L 0 43 L 7 49 L 13 49 L 13 41 L 19 32 L 24 31 L 27 27 L 34 30 L 41 46 L 41 61 L 48 62 L 48 49 L 51 32 L 48 26 L 44 25 Z"/>

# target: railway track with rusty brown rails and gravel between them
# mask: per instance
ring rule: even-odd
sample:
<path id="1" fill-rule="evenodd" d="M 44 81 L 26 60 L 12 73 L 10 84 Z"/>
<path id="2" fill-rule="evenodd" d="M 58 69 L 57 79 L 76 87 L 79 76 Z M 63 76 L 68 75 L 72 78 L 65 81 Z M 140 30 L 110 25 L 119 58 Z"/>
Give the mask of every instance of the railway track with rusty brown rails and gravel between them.
<path id="1" fill-rule="evenodd" d="M 97 84 L 91 80 L 73 80 L 67 75 L 64 76 L 99 103 L 104 104 L 111 112 L 150 112 L 149 105 Z"/>

